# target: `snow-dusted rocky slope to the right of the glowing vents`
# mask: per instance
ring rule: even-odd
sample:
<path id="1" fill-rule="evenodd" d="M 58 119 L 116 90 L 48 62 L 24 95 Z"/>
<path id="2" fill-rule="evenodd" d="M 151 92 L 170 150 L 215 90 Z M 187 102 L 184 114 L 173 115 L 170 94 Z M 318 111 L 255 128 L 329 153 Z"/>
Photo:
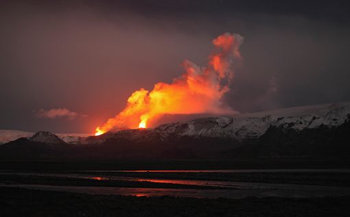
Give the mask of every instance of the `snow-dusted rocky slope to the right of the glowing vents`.
<path id="1" fill-rule="evenodd" d="M 256 138 L 270 126 L 303 130 L 326 126 L 339 126 L 350 116 L 350 102 L 299 106 L 288 109 L 262 111 L 234 116 L 194 119 L 189 122 L 163 124 L 155 130 L 163 138 L 170 135 L 190 137 L 226 137 L 231 139 Z"/>

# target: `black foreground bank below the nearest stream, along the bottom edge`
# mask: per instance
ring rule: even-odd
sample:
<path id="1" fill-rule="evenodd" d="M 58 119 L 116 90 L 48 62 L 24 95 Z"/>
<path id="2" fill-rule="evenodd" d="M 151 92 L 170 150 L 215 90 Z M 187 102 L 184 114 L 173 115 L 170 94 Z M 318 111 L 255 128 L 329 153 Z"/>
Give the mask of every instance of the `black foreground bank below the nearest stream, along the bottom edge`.
<path id="1" fill-rule="evenodd" d="M 106 196 L 0 187 L 1 216 L 349 216 L 350 196 L 176 198 Z"/>

